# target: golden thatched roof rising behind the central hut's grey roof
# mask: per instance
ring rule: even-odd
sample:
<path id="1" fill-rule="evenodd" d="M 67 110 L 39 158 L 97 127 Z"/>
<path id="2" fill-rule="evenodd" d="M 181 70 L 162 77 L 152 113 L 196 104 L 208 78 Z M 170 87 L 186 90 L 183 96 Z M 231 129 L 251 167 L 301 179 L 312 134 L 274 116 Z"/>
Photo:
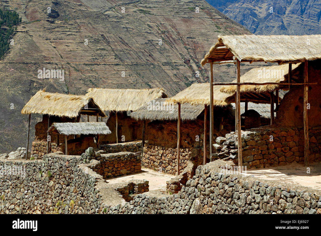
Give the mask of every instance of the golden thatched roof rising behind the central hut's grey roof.
<path id="1" fill-rule="evenodd" d="M 221 86 L 219 85 L 213 88 L 213 104 L 215 106 L 226 106 L 231 102 L 230 96 L 221 92 L 220 89 Z M 181 104 L 210 105 L 210 83 L 193 83 L 167 101 Z"/>

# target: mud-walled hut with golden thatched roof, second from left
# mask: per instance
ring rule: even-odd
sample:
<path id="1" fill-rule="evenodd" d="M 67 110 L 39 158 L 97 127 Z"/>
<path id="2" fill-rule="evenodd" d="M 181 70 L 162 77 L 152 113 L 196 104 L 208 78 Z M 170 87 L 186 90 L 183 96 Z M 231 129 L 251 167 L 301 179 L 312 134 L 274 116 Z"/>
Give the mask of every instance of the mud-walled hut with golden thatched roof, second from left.
<path id="1" fill-rule="evenodd" d="M 101 109 L 109 113 L 106 124 L 110 128 L 112 135 L 102 135 L 100 137 L 102 144 L 130 142 L 140 139 L 143 123 L 131 118 L 130 113 L 153 99 L 167 98 L 163 88 L 91 88 L 86 96 L 93 97 Z"/>

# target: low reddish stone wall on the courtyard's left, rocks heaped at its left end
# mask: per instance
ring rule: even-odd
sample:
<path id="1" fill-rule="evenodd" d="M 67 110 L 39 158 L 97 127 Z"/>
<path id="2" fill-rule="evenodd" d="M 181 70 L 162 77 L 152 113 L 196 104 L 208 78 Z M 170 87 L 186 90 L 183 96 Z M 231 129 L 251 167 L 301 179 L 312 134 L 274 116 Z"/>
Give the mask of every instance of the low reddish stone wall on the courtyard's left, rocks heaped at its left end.
<path id="1" fill-rule="evenodd" d="M 92 160 L 91 169 L 104 179 L 138 173 L 142 170 L 141 152 L 100 154 L 100 152 L 94 152 L 93 148 L 90 147 L 82 154 L 82 157 Z"/>

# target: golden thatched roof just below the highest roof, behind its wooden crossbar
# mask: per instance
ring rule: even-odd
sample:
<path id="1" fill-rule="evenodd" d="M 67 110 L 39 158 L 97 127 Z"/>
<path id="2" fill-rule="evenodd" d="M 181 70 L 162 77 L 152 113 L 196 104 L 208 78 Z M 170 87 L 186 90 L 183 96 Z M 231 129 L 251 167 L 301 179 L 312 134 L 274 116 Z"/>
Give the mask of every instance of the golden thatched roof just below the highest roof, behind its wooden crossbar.
<path id="1" fill-rule="evenodd" d="M 299 66 L 301 63 L 292 65 L 292 74 L 295 74 L 296 70 L 299 70 Z M 302 64 L 303 65 L 303 64 Z M 302 66 L 301 66 L 302 67 Z M 281 66 L 264 66 L 252 68 L 247 73 L 240 77 L 240 82 L 250 82 L 250 83 L 265 83 L 265 82 L 273 82 L 273 83 L 281 83 L 288 82 L 289 76 L 289 65 L 284 64 Z M 292 79 L 292 78 L 291 78 Z M 237 80 L 232 81 L 236 83 Z M 294 82 L 294 81 L 293 81 Z M 228 94 L 236 93 L 236 85 L 224 85 L 221 86 L 220 91 Z M 275 89 L 279 88 L 279 85 L 275 84 L 266 84 L 266 85 L 240 85 L 241 93 L 265 93 L 272 92 Z M 288 85 L 281 86 L 285 90 L 288 89 Z"/>

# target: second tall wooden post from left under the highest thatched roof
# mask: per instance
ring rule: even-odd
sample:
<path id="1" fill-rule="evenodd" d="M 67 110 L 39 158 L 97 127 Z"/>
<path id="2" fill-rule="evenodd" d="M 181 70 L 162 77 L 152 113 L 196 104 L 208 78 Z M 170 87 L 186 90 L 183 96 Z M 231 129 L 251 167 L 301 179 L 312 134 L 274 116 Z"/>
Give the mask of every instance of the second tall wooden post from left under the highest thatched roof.
<path id="1" fill-rule="evenodd" d="M 240 83 L 240 61 L 236 62 L 236 74 L 237 74 L 237 82 Z M 239 172 L 242 172 L 242 137 L 241 137 L 241 105 L 240 105 L 240 85 L 236 87 L 236 108 L 237 108 L 237 128 L 238 128 L 238 157 L 239 157 Z"/>

